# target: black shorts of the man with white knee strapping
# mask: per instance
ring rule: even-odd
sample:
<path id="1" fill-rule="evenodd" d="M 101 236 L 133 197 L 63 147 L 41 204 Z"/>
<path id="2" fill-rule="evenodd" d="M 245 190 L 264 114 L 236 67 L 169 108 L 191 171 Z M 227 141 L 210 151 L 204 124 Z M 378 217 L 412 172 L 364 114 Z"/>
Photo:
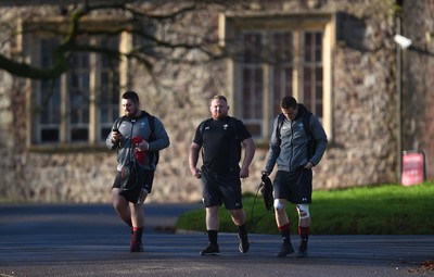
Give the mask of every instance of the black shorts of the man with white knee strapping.
<path id="1" fill-rule="evenodd" d="M 312 171 L 303 167 L 295 172 L 279 171 L 273 181 L 275 199 L 286 199 L 293 204 L 310 204 Z"/>

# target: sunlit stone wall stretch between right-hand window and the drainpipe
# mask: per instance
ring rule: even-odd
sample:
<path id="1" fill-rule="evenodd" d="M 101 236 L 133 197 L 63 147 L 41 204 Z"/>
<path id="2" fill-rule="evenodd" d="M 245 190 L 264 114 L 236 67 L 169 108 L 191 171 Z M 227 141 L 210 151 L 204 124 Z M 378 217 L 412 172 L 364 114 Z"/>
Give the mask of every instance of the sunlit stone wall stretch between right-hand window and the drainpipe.
<path id="1" fill-rule="evenodd" d="M 337 2 L 335 2 L 337 3 Z M 394 21 L 387 1 L 336 7 L 333 50 L 333 134 L 315 169 L 318 188 L 396 181 Z"/>

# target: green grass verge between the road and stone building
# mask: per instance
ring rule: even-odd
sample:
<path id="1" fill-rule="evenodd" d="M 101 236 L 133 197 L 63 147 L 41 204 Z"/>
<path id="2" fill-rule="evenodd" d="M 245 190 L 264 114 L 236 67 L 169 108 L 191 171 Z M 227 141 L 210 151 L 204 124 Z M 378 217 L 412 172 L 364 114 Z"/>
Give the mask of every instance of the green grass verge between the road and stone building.
<path id="1" fill-rule="evenodd" d="M 250 232 L 278 234 L 275 214 L 266 212 L 260 193 L 256 201 L 244 196 L 243 204 Z M 298 218 L 293 204 L 288 214 L 295 234 Z M 433 235 L 434 182 L 314 191 L 310 215 L 312 235 Z M 205 231 L 205 209 L 182 214 L 176 228 Z M 220 231 L 237 231 L 224 207 Z"/>

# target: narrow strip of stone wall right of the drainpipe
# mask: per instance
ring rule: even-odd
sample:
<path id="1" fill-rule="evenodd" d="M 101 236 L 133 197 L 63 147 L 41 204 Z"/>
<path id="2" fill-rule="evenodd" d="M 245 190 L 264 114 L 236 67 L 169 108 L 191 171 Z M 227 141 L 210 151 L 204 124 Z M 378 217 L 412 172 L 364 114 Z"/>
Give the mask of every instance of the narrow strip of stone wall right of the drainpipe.
<path id="1" fill-rule="evenodd" d="M 403 51 L 403 150 L 425 153 L 426 174 L 434 167 L 434 1 L 405 1 L 403 35 L 412 45 Z M 431 164 L 431 165 L 430 165 Z"/>

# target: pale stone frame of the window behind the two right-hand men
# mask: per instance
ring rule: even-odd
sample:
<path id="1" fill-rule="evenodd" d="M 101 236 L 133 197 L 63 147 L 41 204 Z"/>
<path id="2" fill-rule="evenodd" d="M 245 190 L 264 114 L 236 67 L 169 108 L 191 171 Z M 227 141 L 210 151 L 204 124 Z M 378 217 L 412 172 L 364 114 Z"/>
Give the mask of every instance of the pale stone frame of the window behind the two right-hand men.
<path id="1" fill-rule="evenodd" d="M 245 32 L 264 33 L 276 32 L 294 32 L 295 51 L 302 53 L 301 39 L 304 30 L 322 32 L 322 116 L 320 121 L 328 134 L 329 139 L 332 138 L 332 49 L 335 45 L 335 15 L 328 13 L 312 14 L 247 14 L 244 16 L 220 13 L 219 14 L 219 41 L 220 47 L 227 48 L 229 52 L 237 53 L 241 49 L 240 35 Z M 237 54 L 227 59 L 228 65 L 228 100 L 233 103 L 232 113 L 234 116 L 243 118 L 243 97 L 242 91 L 242 63 L 239 62 Z M 299 73 L 301 61 L 297 55 L 294 56 L 296 68 L 293 71 L 293 96 L 298 100 L 303 99 L 303 74 Z M 272 123 L 277 114 L 272 106 L 272 74 L 271 66 L 264 63 L 264 97 L 263 101 L 263 118 L 261 118 L 261 136 L 256 136 L 255 140 L 258 146 L 268 147 L 269 138 L 272 131 Z M 303 102 L 303 101 L 299 101 Z M 245 121 L 248 123 L 248 121 Z"/>

